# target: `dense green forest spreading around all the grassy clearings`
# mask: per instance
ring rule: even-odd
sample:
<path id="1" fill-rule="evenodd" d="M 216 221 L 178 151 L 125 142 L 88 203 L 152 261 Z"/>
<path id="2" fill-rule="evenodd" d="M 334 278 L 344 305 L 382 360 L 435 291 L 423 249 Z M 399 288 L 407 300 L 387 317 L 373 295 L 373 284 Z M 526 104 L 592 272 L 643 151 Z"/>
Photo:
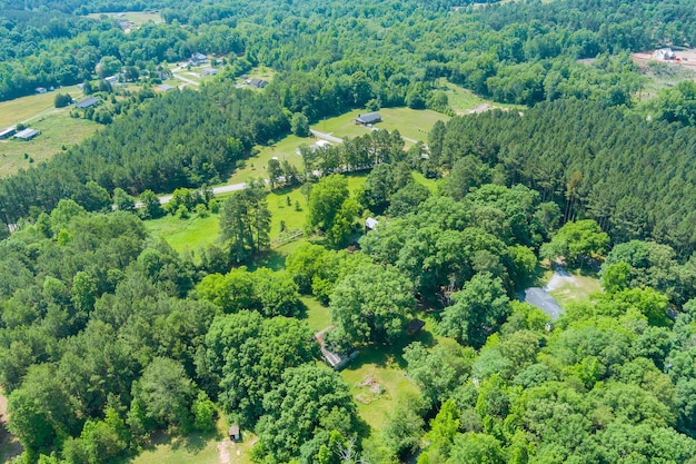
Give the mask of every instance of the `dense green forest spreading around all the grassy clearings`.
<path id="1" fill-rule="evenodd" d="M 695 43 L 693 3 L 0 1 L 0 100 L 196 51 L 225 65 L 198 90 L 103 86 L 102 130 L 0 180 L 14 462 L 123 462 L 222 415 L 266 464 L 695 463 L 696 85 L 638 101 L 628 55 Z M 128 33 L 84 17 L 155 8 L 165 23 Z M 238 88 L 258 66 L 272 82 Z M 455 116 L 446 82 L 518 107 Z M 453 118 L 408 149 L 381 129 L 308 144 L 268 185 L 211 194 L 259 146 L 398 106 Z M 295 189 L 282 256 L 267 196 Z M 167 213 L 216 215 L 217 239 L 176 253 L 143 223 Z M 554 320 L 518 300 L 540 261 L 601 292 Z M 380 427 L 306 302 L 325 347 L 388 353 L 414 387 Z"/>

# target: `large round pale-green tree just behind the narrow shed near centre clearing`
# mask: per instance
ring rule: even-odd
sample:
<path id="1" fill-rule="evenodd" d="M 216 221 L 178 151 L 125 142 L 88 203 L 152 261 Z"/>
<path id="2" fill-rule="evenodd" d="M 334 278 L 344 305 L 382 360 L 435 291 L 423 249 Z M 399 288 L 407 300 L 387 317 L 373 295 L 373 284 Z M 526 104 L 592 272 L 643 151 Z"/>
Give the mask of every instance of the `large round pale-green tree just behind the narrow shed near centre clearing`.
<path id="1" fill-rule="evenodd" d="M 331 320 L 354 343 L 394 343 L 415 307 L 412 288 L 392 267 L 364 264 L 336 284 Z"/>

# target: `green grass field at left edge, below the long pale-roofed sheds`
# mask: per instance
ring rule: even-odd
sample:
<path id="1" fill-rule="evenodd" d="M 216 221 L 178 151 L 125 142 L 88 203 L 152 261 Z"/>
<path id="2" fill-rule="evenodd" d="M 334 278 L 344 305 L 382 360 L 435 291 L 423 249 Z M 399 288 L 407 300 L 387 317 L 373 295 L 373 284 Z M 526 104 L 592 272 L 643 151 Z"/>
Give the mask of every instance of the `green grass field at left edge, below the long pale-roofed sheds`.
<path id="1" fill-rule="evenodd" d="M 100 128 L 97 122 L 71 118 L 67 111 L 41 116 L 28 127 L 38 129 L 41 134 L 29 141 L 0 140 L 0 178 L 46 161 L 61 151 L 63 146 L 68 148 L 79 144 Z M 24 158 L 24 154 L 27 154 L 27 158 Z M 31 159 L 33 162 L 30 162 Z"/>

